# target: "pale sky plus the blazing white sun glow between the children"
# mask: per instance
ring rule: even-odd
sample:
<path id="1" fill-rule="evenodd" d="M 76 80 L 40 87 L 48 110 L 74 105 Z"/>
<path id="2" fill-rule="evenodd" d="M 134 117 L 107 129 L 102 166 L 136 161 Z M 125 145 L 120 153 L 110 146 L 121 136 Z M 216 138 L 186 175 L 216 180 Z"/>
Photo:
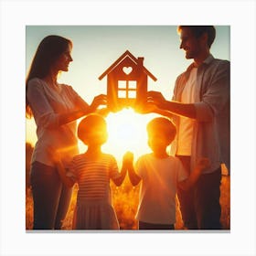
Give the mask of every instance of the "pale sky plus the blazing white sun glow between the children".
<path id="1" fill-rule="evenodd" d="M 219 26 L 217 29 L 219 37 L 212 48 L 213 55 L 229 59 L 229 27 Z M 96 95 L 106 94 L 107 78 L 98 80 L 98 77 L 126 50 L 135 58 L 144 57 L 144 67 L 157 78 L 156 81 L 148 78 L 148 91 L 161 91 L 169 100 L 176 76 L 188 65 L 184 53 L 178 48 L 176 26 L 27 26 L 26 33 L 27 70 L 43 37 L 57 34 L 72 40 L 73 61 L 69 72 L 61 73 L 59 82 L 71 85 L 88 103 Z M 95 44 L 101 42 L 102 35 L 108 35 L 104 44 Z M 119 163 L 128 150 L 133 152 L 134 160 L 149 152 L 146 123 L 155 116 L 136 113 L 132 108 L 111 112 L 106 118 L 109 137 L 102 150 L 114 155 Z M 33 146 L 37 142 L 34 119 L 26 120 L 26 141 Z M 86 146 L 80 141 L 79 147 L 81 153 L 85 152 Z"/>

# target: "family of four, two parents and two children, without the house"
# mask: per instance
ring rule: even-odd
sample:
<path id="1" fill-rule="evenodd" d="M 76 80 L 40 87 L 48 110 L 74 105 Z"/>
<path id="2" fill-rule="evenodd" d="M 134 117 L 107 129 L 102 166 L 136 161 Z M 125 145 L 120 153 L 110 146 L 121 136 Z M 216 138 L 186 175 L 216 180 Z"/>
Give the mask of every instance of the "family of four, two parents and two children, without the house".
<path id="1" fill-rule="evenodd" d="M 194 61 L 177 77 L 171 101 L 148 92 L 143 113 L 159 115 L 145 127 L 152 153 L 133 163 L 127 152 L 120 171 L 114 156 L 101 151 L 109 111 L 99 107 L 106 95 L 88 104 L 58 82 L 72 61 L 69 39 L 48 36 L 40 42 L 26 80 L 26 115 L 37 124 L 30 172 L 33 229 L 61 229 L 75 183 L 73 229 L 120 229 L 110 179 L 121 186 L 127 173 L 133 186 L 141 186 L 138 229 L 175 229 L 176 195 L 186 229 L 221 229 L 221 164 L 229 169 L 230 158 L 230 63 L 210 53 L 215 27 L 178 26 L 177 33 L 179 48 Z M 78 140 L 87 145 L 85 153 Z"/>

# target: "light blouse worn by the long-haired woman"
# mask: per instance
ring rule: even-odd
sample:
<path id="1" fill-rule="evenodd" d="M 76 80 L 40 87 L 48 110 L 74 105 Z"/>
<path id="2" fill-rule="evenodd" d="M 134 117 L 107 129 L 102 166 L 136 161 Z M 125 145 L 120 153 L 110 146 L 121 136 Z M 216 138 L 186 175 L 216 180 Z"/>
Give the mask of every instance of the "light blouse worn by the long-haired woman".
<path id="1" fill-rule="evenodd" d="M 28 81 L 27 100 L 37 124 L 37 144 L 31 163 L 54 166 L 52 152 L 58 150 L 65 165 L 78 154 L 77 122 L 59 125 L 59 115 L 86 108 L 88 104 L 71 86 L 59 84 L 53 88 L 37 78 Z"/>

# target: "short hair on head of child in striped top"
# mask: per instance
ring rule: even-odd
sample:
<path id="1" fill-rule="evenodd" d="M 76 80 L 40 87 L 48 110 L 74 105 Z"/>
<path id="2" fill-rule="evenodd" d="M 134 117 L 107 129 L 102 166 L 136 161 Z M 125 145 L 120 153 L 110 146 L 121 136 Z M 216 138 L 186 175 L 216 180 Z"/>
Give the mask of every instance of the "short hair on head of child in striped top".
<path id="1" fill-rule="evenodd" d="M 88 144 L 91 139 L 104 144 L 107 140 L 107 123 L 99 114 L 90 114 L 81 120 L 78 127 L 78 137 Z"/>

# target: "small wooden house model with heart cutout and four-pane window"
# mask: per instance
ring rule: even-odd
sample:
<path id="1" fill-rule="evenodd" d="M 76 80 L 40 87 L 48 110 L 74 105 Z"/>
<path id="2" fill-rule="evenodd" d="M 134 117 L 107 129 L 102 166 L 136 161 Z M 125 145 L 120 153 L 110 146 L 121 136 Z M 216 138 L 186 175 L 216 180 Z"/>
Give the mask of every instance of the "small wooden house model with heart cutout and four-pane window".
<path id="1" fill-rule="evenodd" d="M 142 107 L 147 100 L 147 77 L 156 80 L 155 76 L 144 68 L 144 58 L 136 59 L 129 50 L 106 69 L 99 80 L 105 76 L 107 105 L 113 112 L 120 111 L 123 107 Z"/>

